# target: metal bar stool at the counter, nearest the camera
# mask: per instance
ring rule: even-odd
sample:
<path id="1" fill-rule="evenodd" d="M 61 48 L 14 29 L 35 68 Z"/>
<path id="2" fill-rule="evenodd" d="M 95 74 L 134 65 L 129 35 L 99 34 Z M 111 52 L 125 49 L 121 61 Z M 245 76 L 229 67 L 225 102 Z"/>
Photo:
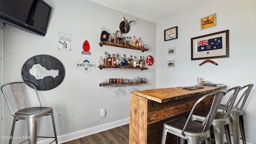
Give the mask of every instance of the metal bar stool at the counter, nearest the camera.
<path id="1" fill-rule="evenodd" d="M 220 102 L 222 100 L 222 96 L 226 92 L 224 90 L 217 90 L 215 92 L 211 92 L 199 98 L 192 110 L 188 118 L 176 118 L 174 120 L 170 120 L 164 123 L 164 128 L 162 132 L 162 142 L 161 144 L 165 144 L 167 132 L 178 136 L 178 144 L 184 144 L 184 140 L 188 140 L 188 144 L 201 144 L 202 141 L 206 141 L 206 144 L 210 144 L 210 126 L 214 119 L 214 116 L 218 110 Z M 191 116 L 196 109 L 196 106 L 205 98 L 210 96 L 214 96 L 212 101 L 212 106 L 209 110 L 208 115 L 203 123 L 195 122 L 191 120 Z"/>

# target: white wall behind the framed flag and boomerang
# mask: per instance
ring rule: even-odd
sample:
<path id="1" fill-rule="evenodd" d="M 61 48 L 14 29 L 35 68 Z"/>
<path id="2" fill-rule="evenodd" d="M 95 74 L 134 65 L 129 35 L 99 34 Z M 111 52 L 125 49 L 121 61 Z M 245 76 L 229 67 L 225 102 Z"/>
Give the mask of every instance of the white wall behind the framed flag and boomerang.
<path id="1" fill-rule="evenodd" d="M 200 30 L 200 18 L 216 13 L 217 26 Z M 256 84 L 256 1 L 214 0 L 156 25 L 156 88 L 193 86 L 198 76 L 212 83 L 224 83 L 227 88 Z M 164 30 L 178 26 L 178 39 L 164 42 Z M 191 60 L 191 38 L 229 30 L 229 58 L 215 58 L 219 65 L 204 60 Z M 176 47 L 175 55 L 167 55 L 167 48 Z M 175 60 L 175 67 L 166 61 Z M 255 87 L 255 86 L 254 86 Z M 256 142 L 255 88 L 244 107 L 246 140 Z"/>

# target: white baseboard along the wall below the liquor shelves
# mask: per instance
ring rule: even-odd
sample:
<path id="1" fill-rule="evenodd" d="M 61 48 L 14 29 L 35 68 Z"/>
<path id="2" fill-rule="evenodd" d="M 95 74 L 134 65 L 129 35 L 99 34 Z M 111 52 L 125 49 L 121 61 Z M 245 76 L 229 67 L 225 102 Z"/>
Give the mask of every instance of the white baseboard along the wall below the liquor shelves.
<path id="1" fill-rule="evenodd" d="M 109 123 L 102 124 L 102 125 L 99 125 L 99 126 L 94 126 L 92 128 L 86 128 L 84 130 L 78 130 L 76 132 L 70 132 L 68 134 L 63 134 L 63 135 L 57 136 L 58 143 L 61 144 L 63 142 L 68 142 L 70 140 L 75 140 L 75 139 L 78 139 L 78 138 L 82 138 L 84 136 L 89 136 L 91 134 L 96 134 L 96 133 L 102 132 L 104 130 L 109 130 L 111 128 L 116 128 L 116 127 L 122 126 L 124 124 L 129 124 L 129 122 L 130 122 L 130 118 L 124 118 L 122 120 L 109 122 Z M 52 138 L 48 138 L 48 139 L 45 139 L 45 140 L 40 140 L 36 143 L 37 144 L 49 144 L 50 142 L 52 142 Z M 53 143 L 53 144 L 55 144 L 55 143 Z"/>

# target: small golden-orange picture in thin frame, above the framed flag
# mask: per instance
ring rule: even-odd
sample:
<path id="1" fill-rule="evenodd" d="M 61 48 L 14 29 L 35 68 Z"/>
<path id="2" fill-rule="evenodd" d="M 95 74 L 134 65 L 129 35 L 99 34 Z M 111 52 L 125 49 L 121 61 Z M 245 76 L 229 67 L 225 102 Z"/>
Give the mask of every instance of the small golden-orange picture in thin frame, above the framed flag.
<path id="1" fill-rule="evenodd" d="M 200 30 L 216 26 L 216 13 L 200 19 Z"/>

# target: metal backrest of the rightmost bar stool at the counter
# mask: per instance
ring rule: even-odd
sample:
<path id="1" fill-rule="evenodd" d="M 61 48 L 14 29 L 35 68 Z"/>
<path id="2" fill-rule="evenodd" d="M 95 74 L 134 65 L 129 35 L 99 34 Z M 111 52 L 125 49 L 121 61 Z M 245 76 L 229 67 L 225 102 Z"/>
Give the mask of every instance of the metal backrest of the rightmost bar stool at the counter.
<path id="1" fill-rule="evenodd" d="M 250 94 L 250 92 L 251 92 L 251 90 L 252 90 L 252 86 L 254 86 L 254 84 L 247 84 L 246 86 L 243 86 L 243 87 L 239 90 L 239 92 L 240 92 L 241 90 L 247 88 L 246 90 L 244 90 L 244 93 L 242 94 L 242 96 L 240 97 L 240 99 L 238 100 L 238 102 L 237 102 L 237 104 L 236 104 L 236 106 L 235 106 L 236 108 L 238 108 L 238 105 L 239 105 L 240 102 L 242 101 L 239 110 L 242 110 L 242 109 L 244 108 L 244 104 L 245 104 L 245 102 L 246 102 L 246 100 L 247 100 L 247 98 L 248 98 L 248 96 L 249 96 L 249 94 Z M 242 99 L 243 99 L 243 100 L 242 100 Z"/>

